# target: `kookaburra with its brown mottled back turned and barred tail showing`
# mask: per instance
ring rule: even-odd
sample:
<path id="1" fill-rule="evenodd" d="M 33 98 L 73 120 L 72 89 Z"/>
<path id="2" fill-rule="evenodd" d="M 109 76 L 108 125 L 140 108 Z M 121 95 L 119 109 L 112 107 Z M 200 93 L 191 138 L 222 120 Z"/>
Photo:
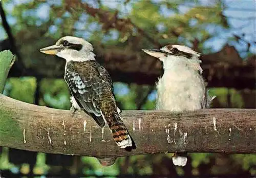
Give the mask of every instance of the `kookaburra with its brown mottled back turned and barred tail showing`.
<path id="1" fill-rule="evenodd" d="M 72 94 L 72 108 L 84 110 L 100 127 L 106 122 L 120 148 L 132 147 L 133 141 L 116 105 L 112 79 L 95 61 L 92 44 L 82 38 L 65 36 L 40 52 L 66 59 L 64 79 Z"/>

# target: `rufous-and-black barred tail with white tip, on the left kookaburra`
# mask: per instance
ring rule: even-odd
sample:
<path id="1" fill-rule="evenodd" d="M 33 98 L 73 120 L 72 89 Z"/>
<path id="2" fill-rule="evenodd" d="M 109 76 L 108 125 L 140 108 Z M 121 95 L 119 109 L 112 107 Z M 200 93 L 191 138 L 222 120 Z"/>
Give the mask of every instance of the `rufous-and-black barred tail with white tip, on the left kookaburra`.
<path id="1" fill-rule="evenodd" d="M 110 127 L 110 130 L 112 132 L 112 135 L 116 144 L 120 148 L 132 147 L 133 141 L 122 121 L 122 118 L 119 112 L 117 107 L 115 107 L 115 109 L 109 108 L 108 111 L 105 110 L 105 112 L 103 113 L 104 119 L 106 120 L 106 123 L 108 123 Z"/>

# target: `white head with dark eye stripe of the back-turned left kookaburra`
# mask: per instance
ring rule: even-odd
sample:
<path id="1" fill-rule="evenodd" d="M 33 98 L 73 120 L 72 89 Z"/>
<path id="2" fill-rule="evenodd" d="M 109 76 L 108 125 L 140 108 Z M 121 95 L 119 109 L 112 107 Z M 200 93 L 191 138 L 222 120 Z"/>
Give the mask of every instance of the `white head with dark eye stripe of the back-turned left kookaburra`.
<path id="1" fill-rule="evenodd" d="M 95 60 L 92 44 L 74 36 L 62 37 L 54 45 L 40 49 L 40 52 L 57 55 L 67 61 Z"/>

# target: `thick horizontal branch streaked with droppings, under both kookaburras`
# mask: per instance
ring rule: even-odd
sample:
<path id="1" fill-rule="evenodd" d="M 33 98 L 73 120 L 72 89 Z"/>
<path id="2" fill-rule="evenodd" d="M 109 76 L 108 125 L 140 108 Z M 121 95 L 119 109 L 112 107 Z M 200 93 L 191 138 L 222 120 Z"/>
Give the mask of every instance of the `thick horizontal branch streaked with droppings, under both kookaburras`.
<path id="1" fill-rule="evenodd" d="M 104 127 L 101 133 L 83 112 L 72 115 L 69 110 L 0 95 L 0 113 L 0 145 L 18 149 L 94 157 L 175 151 L 256 153 L 255 109 L 124 111 L 123 121 L 137 146 L 131 152 L 120 149 L 110 130 Z"/>

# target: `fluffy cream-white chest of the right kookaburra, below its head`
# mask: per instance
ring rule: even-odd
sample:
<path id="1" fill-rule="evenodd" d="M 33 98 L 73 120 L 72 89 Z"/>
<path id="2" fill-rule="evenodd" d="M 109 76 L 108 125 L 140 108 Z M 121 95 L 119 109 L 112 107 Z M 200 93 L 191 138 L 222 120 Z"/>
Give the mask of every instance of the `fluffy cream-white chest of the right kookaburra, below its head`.
<path id="1" fill-rule="evenodd" d="M 202 108 L 205 85 L 201 75 L 195 71 L 165 70 L 157 83 L 157 109 L 172 111 Z"/>

